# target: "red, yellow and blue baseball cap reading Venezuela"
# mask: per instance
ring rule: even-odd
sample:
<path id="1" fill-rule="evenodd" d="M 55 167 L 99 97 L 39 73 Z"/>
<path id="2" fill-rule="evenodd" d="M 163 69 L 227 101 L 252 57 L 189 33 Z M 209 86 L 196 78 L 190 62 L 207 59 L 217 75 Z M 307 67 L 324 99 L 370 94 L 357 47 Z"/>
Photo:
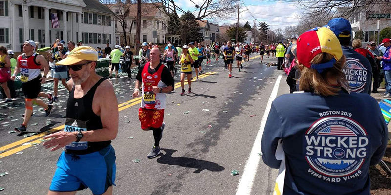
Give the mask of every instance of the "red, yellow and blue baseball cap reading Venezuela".
<path id="1" fill-rule="evenodd" d="M 322 27 L 307 31 L 297 39 L 297 60 L 307 68 L 316 69 L 322 73 L 326 68 L 331 68 L 334 63 L 341 59 L 342 48 L 338 38 L 333 31 Z M 312 59 L 322 52 L 334 56 L 328 62 L 311 64 Z"/>

